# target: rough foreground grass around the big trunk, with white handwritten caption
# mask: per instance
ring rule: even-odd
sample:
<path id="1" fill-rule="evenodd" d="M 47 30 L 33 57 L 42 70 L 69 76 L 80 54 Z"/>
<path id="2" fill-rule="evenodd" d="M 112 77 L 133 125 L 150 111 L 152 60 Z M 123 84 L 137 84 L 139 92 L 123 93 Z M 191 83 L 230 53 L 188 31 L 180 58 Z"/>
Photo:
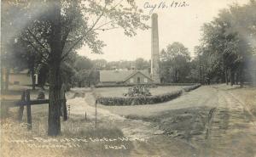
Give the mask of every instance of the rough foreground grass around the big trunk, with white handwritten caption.
<path id="1" fill-rule="evenodd" d="M 26 130 L 26 109 L 23 121 L 15 121 L 17 109 L 9 109 L 9 116 L 1 120 L 0 156 L 6 157 L 75 157 L 75 156 L 127 156 L 133 144 L 121 141 L 124 134 L 116 126 L 84 116 L 71 115 L 61 121 L 61 136 L 47 136 L 48 105 L 32 106 L 32 131 Z M 99 141 L 99 140 L 102 141 Z M 115 141 L 104 141 L 117 139 Z M 112 147 L 116 146 L 117 149 Z M 124 149 L 125 147 L 125 149 Z"/>

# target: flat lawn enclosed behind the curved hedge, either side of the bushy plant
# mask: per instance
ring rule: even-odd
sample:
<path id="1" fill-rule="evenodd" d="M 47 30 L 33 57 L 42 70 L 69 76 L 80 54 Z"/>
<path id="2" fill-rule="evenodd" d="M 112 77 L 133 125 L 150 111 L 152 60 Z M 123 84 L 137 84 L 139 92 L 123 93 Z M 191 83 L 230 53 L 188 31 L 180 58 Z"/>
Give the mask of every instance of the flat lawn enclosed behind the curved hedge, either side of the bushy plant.
<path id="1" fill-rule="evenodd" d="M 184 86 L 166 86 L 149 88 L 152 95 L 159 95 L 164 93 L 172 93 L 174 91 L 182 89 Z M 129 87 L 102 87 L 96 88 L 96 94 L 102 97 L 124 97 L 123 93 L 128 93 Z"/>

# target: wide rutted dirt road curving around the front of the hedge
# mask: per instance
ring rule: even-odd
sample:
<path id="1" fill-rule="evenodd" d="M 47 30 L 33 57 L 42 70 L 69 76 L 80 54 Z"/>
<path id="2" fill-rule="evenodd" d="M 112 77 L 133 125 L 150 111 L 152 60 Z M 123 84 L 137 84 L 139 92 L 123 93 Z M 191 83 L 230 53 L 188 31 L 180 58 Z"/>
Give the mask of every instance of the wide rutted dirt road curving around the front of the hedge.
<path id="1" fill-rule="evenodd" d="M 135 144 L 131 156 L 256 155 L 256 119 L 241 89 L 225 85 L 200 87 L 170 102 L 138 106 L 98 105 L 100 121 L 116 124 L 128 137 L 148 137 Z M 255 88 L 253 89 L 255 92 Z M 95 115 L 86 92 L 73 114 Z M 77 101 L 78 99 L 69 100 Z M 73 102 L 74 103 L 74 102 Z"/>

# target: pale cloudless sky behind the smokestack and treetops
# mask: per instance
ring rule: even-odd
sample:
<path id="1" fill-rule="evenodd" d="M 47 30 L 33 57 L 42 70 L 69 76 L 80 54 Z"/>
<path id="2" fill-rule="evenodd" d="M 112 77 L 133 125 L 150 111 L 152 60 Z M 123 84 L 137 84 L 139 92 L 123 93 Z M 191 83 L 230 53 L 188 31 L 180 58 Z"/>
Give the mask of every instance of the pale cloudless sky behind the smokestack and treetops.
<path id="1" fill-rule="evenodd" d="M 244 4 L 249 0 L 135 0 L 138 8 L 142 8 L 144 14 L 158 14 L 159 45 L 160 50 L 166 48 L 172 42 L 182 42 L 189 48 L 191 57 L 194 56 L 194 48 L 199 45 L 201 39 L 201 26 L 218 16 L 218 11 L 228 8 L 232 3 Z M 172 2 L 185 2 L 186 7 L 170 8 Z M 169 8 L 147 8 L 149 5 L 166 3 Z M 151 20 L 147 21 L 151 24 Z M 103 54 L 91 53 L 86 45 L 78 50 L 79 55 L 89 59 L 106 59 L 108 61 L 135 60 L 137 58 L 150 59 L 151 55 L 151 30 L 137 30 L 137 36 L 125 36 L 121 29 L 102 31 L 99 38 L 107 45 L 103 48 Z"/>

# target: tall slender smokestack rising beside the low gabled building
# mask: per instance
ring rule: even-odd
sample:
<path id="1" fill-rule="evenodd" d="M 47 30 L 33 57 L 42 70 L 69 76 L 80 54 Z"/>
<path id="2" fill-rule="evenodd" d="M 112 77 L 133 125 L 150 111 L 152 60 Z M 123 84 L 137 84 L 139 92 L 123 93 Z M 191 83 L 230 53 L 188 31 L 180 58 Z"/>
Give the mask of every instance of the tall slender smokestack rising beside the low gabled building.
<path id="1" fill-rule="evenodd" d="M 152 14 L 151 20 L 151 77 L 154 83 L 160 83 L 160 55 L 157 14 Z"/>

